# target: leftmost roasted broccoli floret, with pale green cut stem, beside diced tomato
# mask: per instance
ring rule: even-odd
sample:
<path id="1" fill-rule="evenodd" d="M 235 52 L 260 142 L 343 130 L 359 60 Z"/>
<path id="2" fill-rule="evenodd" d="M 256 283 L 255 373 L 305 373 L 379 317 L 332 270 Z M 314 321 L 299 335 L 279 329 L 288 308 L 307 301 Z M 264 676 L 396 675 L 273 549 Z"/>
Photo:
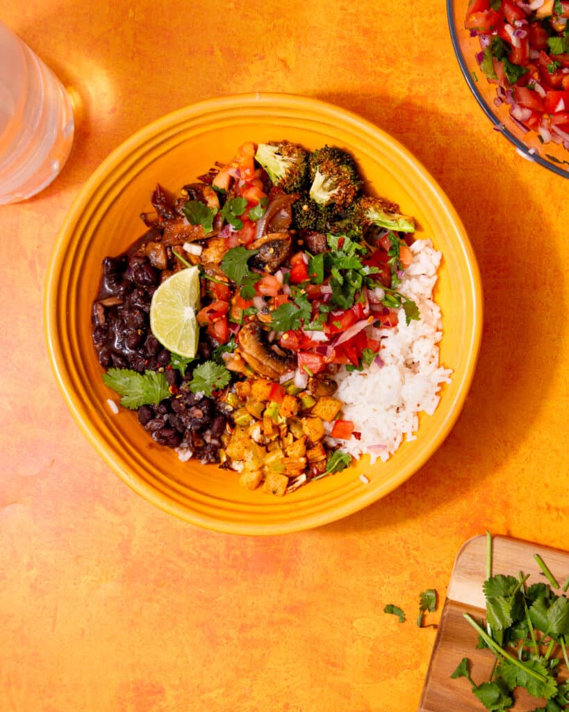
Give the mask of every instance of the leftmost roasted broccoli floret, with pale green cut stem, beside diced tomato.
<path id="1" fill-rule="evenodd" d="M 296 193 L 307 187 L 308 152 L 289 141 L 272 141 L 257 146 L 255 159 L 267 171 L 273 185 L 285 193 Z"/>

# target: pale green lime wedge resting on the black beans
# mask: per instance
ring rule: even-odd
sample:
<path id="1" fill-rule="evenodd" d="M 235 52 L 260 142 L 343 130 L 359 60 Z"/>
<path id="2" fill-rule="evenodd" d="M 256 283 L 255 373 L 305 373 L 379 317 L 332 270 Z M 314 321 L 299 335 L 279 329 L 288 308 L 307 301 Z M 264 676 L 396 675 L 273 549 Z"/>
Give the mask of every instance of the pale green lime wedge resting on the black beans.
<path id="1" fill-rule="evenodd" d="M 196 266 L 176 272 L 161 283 L 150 303 L 150 328 L 169 351 L 193 358 L 198 350 L 200 275 Z"/>

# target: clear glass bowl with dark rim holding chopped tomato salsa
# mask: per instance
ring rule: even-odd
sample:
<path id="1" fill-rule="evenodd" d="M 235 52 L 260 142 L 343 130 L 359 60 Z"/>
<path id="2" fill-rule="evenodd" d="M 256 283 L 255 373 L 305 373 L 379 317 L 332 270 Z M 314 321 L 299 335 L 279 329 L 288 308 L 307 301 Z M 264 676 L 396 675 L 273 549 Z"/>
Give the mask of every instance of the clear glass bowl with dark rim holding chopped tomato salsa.
<path id="1" fill-rule="evenodd" d="M 454 52 L 474 98 L 494 124 L 494 129 L 504 134 L 521 156 L 569 178 L 569 151 L 553 142 L 542 144 L 534 131 L 524 133 L 511 120 L 509 106 L 506 103 L 496 106 L 494 103 L 497 85 L 486 80 L 476 59 L 480 51 L 479 38 L 471 37 L 464 28 L 468 4 L 468 0 L 447 0 L 447 19 Z"/>

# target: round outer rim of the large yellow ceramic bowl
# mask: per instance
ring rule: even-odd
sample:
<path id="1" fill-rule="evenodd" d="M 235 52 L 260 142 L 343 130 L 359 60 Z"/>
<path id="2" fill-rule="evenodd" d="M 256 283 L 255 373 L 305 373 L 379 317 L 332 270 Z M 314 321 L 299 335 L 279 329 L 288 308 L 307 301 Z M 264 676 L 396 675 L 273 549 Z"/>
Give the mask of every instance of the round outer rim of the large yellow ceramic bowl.
<path id="1" fill-rule="evenodd" d="M 440 199 L 441 204 L 447 211 L 448 219 L 454 226 L 456 226 L 457 231 L 460 234 L 462 251 L 464 252 L 467 262 L 470 280 L 467 292 L 469 293 L 469 300 L 472 300 L 473 310 L 472 328 L 470 328 L 467 333 L 467 365 L 464 369 L 464 373 L 462 373 L 461 378 L 459 379 L 459 389 L 457 390 L 457 394 L 454 396 L 450 409 L 445 413 L 445 418 L 437 431 L 436 437 L 432 439 L 432 444 L 427 451 L 427 455 L 420 461 L 420 464 L 413 464 L 413 466 L 403 468 L 398 474 L 385 481 L 379 490 L 373 490 L 371 487 L 361 488 L 358 496 L 350 498 L 349 501 L 340 502 L 334 505 L 333 509 L 329 509 L 324 513 L 321 511 L 310 511 L 304 515 L 301 515 L 299 518 L 278 520 L 276 522 L 267 523 L 267 525 L 236 521 L 225 522 L 223 520 L 211 518 L 211 516 L 208 515 L 188 510 L 188 508 L 181 506 L 179 503 L 171 501 L 164 493 L 157 491 L 149 483 L 139 479 L 137 474 L 129 471 L 127 466 L 124 466 L 124 464 L 117 461 L 112 452 L 110 453 L 105 447 L 105 443 L 102 441 L 97 429 L 94 429 L 88 422 L 84 412 L 85 404 L 83 404 L 78 394 L 73 392 L 73 388 L 70 388 L 70 375 L 65 370 L 61 347 L 58 344 L 58 321 L 61 317 L 58 314 L 57 309 L 58 278 L 65 261 L 65 235 L 68 234 L 70 226 L 73 226 L 83 214 L 83 211 L 85 211 L 88 201 L 92 199 L 93 192 L 95 192 L 97 187 L 100 186 L 100 183 L 104 181 L 105 178 L 108 179 L 109 174 L 112 175 L 112 170 L 122 161 L 122 159 L 127 157 L 130 152 L 144 145 L 146 140 L 151 140 L 152 137 L 155 137 L 161 129 L 171 127 L 184 118 L 199 116 L 209 110 L 220 110 L 220 108 L 225 108 L 230 105 L 257 105 L 258 103 L 265 106 L 276 106 L 279 108 L 289 108 L 291 105 L 300 105 L 302 108 L 309 108 L 310 110 L 318 112 L 319 115 L 328 118 L 338 117 L 340 115 L 342 120 L 349 122 L 351 127 L 356 127 L 358 130 L 364 132 L 367 137 L 376 137 L 376 139 L 381 137 L 383 140 L 388 140 L 391 147 L 394 147 L 395 150 L 397 150 L 398 155 L 401 155 L 407 159 L 410 164 L 420 171 L 421 177 L 425 181 L 425 185 L 430 187 L 430 189 L 437 194 L 437 198 Z M 435 451 L 437 451 L 442 442 L 446 439 L 447 435 L 452 430 L 454 423 L 457 421 L 459 414 L 462 412 L 464 401 L 472 384 L 472 379 L 474 378 L 480 343 L 482 340 L 482 311 L 482 280 L 479 273 L 477 259 L 474 254 L 474 250 L 472 249 L 472 244 L 470 244 L 467 232 L 464 229 L 457 212 L 454 210 L 454 206 L 452 206 L 450 199 L 448 199 L 447 195 L 432 177 L 430 172 L 428 172 L 422 163 L 405 146 L 400 144 L 395 137 L 391 136 L 368 120 L 363 119 L 363 117 L 360 117 L 356 113 L 337 105 L 326 103 L 319 99 L 307 98 L 290 93 L 241 93 L 205 99 L 187 105 L 184 108 L 174 110 L 173 112 L 169 112 L 134 132 L 134 134 L 112 150 L 110 155 L 102 161 L 89 179 L 87 179 L 83 187 L 80 189 L 77 197 L 73 201 L 73 204 L 70 207 L 65 220 L 63 221 L 63 225 L 60 228 L 58 237 L 53 246 L 53 253 L 48 266 L 46 286 L 44 290 L 44 331 L 48 348 L 48 357 L 52 365 L 55 379 L 58 382 L 60 391 L 63 394 L 65 403 L 70 409 L 75 422 L 77 422 L 80 426 L 80 430 L 83 431 L 83 434 L 85 434 L 87 441 L 90 442 L 95 451 L 97 451 L 107 465 L 110 466 L 110 468 L 115 471 L 115 473 L 125 483 L 127 483 L 130 488 L 132 488 L 132 490 L 150 503 L 154 504 L 154 506 L 160 508 L 162 511 L 166 511 L 171 515 L 175 515 L 188 523 L 198 525 L 202 528 L 239 535 L 275 535 L 292 533 L 331 523 L 335 520 L 344 518 L 347 515 L 356 513 L 371 503 L 378 501 L 378 499 L 383 498 L 395 488 L 400 486 L 403 482 L 410 478 L 410 476 L 417 473 L 420 468 L 425 465 L 427 460 L 435 454 Z"/>

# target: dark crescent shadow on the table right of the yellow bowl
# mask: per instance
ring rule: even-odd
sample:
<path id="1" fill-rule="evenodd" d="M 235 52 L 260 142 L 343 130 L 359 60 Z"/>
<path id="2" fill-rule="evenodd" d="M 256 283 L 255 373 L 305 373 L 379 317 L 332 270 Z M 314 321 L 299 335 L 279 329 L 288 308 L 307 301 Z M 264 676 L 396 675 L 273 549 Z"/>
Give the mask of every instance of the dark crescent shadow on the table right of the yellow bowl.
<path id="1" fill-rule="evenodd" d="M 378 95 L 349 93 L 316 98 L 381 127 L 422 162 L 462 219 L 477 256 L 484 293 L 477 370 L 457 423 L 427 464 L 402 486 L 366 510 L 321 528 L 324 532 L 345 533 L 390 527 L 402 519 L 423 517 L 452 499 L 464 498 L 474 482 L 489 478 L 495 468 L 503 466 L 518 451 L 547 402 L 550 374 L 555 370 L 555 359 L 560 358 L 551 354 L 551 368 L 541 375 L 541 403 L 526 402 L 528 379 L 534 375 L 525 364 L 538 359 L 544 349 L 539 337 L 528 338 L 539 335 L 543 319 L 541 310 L 528 308 L 528 286 L 536 285 L 537 275 L 548 273 L 548 266 L 556 263 L 558 254 L 555 245 L 545 244 L 546 241 L 528 251 L 526 245 L 532 236 L 527 223 L 524 233 L 523 216 L 517 216 L 519 224 L 512 224 L 516 216 L 511 216 L 510 205 L 504 205 L 504 190 L 496 189 L 501 179 L 507 180 L 516 205 L 523 205 L 520 213 L 539 211 L 540 205 L 538 196 L 528 192 L 517 174 L 504 175 L 507 167 L 500 165 L 499 153 L 491 153 L 494 135 L 490 124 L 489 140 L 481 145 L 479 137 L 464 122 L 457 135 L 452 117 L 409 98 L 400 103 Z M 544 234 L 546 229 L 544 226 Z M 509 239 L 510 235 L 516 239 Z M 436 236 L 434 240 L 436 245 Z M 507 261 L 504 252 L 496 249 L 500 240 L 507 241 Z M 562 303 L 564 298 L 560 294 Z M 567 326 L 560 322 L 559 328 Z M 482 472 L 477 457 L 481 445 L 486 448 L 485 461 L 490 463 Z"/>

